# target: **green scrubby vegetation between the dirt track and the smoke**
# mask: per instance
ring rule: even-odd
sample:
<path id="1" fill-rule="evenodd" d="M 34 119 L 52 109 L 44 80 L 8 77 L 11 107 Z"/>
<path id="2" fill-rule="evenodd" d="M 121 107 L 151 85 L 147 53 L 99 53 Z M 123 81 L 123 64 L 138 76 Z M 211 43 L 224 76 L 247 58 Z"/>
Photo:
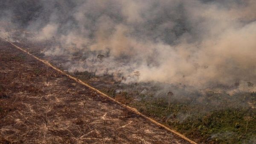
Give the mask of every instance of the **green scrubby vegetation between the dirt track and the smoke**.
<path id="1" fill-rule="evenodd" d="M 74 76 L 199 143 L 256 142 L 256 92 L 181 92 L 171 98 L 168 109 L 169 98 L 160 83 L 122 84 L 113 81 L 113 75 L 99 77 L 90 72 Z"/>

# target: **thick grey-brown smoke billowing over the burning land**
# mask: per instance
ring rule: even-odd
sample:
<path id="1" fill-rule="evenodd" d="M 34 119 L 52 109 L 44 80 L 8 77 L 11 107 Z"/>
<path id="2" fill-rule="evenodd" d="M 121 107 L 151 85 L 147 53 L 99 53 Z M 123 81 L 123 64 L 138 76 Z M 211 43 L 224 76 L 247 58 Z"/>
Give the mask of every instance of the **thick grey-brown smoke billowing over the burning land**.
<path id="1" fill-rule="evenodd" d="M 121 72 L 140 81 L 205 88 L 256 83 L 255 0 L 3 1 L 7 26 L 51 40 L 48 56 L 65 57 L 69 71 Z M 26 10 L 22 10 L 21 6 Z M 11 8 L 11 9 L 9 9 Z M 30 9 L 29 9 L 30 8 Z M 29 10 L 27 10 L 29 9 Z M 8 15 L 6 15 L 8 14 Z M 79 53 L 83 59 L 72 61 Z M 105 55 L 103 61 L 97 60 Z"/>

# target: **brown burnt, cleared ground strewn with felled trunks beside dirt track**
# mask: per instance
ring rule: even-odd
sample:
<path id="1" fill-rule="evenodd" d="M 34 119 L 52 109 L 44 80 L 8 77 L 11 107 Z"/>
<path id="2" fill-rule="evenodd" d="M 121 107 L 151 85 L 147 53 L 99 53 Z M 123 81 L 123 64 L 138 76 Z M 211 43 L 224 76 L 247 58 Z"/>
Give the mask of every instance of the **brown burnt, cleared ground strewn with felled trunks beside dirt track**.
<path id="1" fill-rule="evenodd" d="M 0 88 L 0 143 L 188 144 L 3 41 Z"/>

